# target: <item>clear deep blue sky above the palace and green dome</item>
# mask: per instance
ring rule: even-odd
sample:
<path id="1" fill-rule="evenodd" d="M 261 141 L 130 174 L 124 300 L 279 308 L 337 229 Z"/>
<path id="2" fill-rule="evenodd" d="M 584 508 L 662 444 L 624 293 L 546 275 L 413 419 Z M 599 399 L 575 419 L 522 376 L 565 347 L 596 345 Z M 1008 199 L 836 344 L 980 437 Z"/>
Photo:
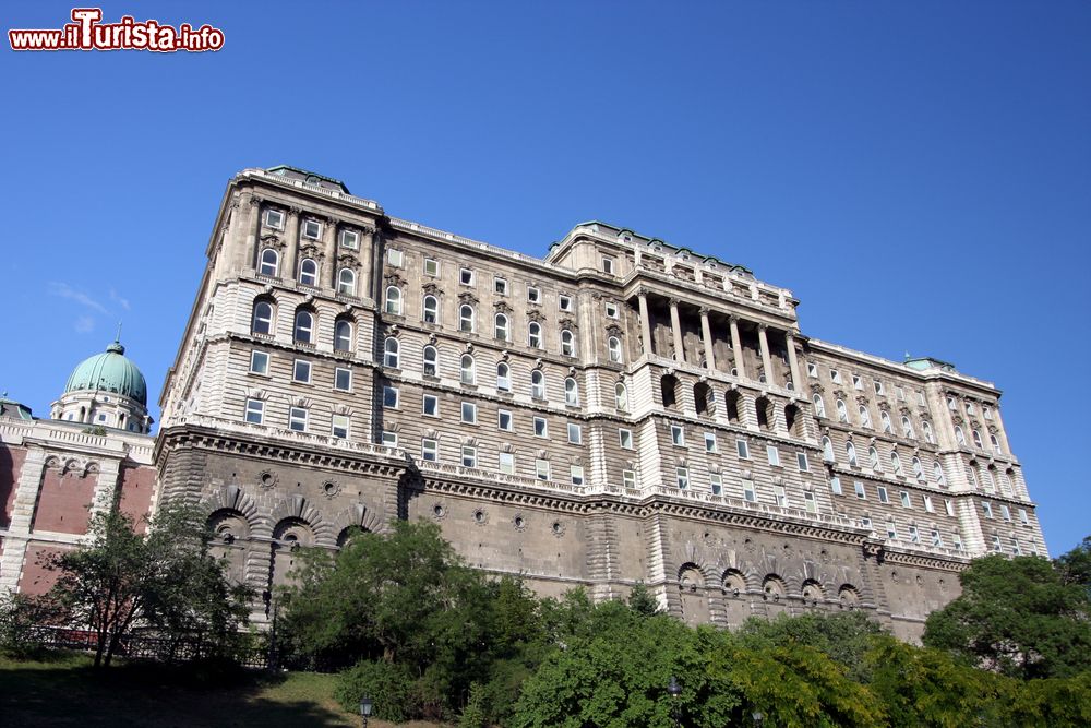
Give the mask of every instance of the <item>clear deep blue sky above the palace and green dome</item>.
<path id="1" fill-rule="evenodd" d="M 4 29 L 70 9 L 8 3 Z M 0 389 L 37 415 L 120 319 L 157 397 L 227 180 L 291 164 L 532 254 L 602 219 L 742 263 L 807 335 L 996 382 L 1051 551 L 1091 534 L 1091 4 L 103 10 L 226 44 L 4 39 Z"/>

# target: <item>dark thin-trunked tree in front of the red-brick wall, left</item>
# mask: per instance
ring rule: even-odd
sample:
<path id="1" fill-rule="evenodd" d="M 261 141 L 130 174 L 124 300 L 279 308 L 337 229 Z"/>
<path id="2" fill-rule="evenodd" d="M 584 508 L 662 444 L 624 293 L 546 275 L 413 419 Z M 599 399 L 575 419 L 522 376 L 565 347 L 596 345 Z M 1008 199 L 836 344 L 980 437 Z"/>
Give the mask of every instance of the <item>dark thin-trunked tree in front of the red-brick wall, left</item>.
<path id="1" fill-rule="evenodd" d="M 136 626 L 197 633 L 227 649 L 247 622 L 251 590 L 227 582 L 195 511 L 167 506 L 147 525 L 140 534 L 120 511 L 98 513 L 91 542 L 46 559 L 60 576 L 44 601 L 61 623 L 94 632 L 95 667 L 108 667 Z"/>

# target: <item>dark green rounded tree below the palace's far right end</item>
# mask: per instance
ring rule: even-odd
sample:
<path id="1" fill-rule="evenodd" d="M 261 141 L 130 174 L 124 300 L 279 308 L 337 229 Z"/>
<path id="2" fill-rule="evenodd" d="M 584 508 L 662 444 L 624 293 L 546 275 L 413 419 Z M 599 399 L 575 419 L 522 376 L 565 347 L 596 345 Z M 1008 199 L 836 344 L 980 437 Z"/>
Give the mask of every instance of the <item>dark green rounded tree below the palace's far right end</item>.
<path id="1" fill-rule="evenodd" d="M 1091 669 L 1088 590 L 1050 561 L 988 556 L 959 580 L 961 596 L 928 617 L 925 645 L 1016 678 Z"/>

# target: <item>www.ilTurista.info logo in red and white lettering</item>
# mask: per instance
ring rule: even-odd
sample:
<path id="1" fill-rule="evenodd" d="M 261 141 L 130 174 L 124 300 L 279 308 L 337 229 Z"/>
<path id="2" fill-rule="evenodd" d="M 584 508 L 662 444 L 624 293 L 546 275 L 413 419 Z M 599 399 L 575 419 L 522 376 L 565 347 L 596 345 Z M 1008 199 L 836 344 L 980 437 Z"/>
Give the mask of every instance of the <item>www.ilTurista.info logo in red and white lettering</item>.
<path id="1" fill-rule="evenodd" d="M 72 23 L 56 31 L 11 29 L 12 50 L 179 50 L 201 52 L 224 47 L 224 32 L 211 25 L 194 28 L 182 23 L 177 28 L 159 21 L 137 22 L 125 15 L 118 23 L 101 23 L 101 8 L 73 8 Z"/>

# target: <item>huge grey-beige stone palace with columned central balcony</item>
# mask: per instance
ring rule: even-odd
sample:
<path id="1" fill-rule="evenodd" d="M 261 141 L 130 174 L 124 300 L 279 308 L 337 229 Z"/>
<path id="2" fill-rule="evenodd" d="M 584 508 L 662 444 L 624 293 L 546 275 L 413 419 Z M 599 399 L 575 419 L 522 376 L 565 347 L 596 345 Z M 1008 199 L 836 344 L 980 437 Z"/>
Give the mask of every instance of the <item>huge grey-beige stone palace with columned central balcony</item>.
<path id="1" fill-rule="evenodd" d="M 299 546 L 423 518 L 546 595 L 913 639 L 970 558 L 1045 554 L 995 386 L 810 338 L 742 265 L 597 222 L 536 259 L 291 167 L 230 181 L 207 258 L 156 498 L 259 592 Z"/>

